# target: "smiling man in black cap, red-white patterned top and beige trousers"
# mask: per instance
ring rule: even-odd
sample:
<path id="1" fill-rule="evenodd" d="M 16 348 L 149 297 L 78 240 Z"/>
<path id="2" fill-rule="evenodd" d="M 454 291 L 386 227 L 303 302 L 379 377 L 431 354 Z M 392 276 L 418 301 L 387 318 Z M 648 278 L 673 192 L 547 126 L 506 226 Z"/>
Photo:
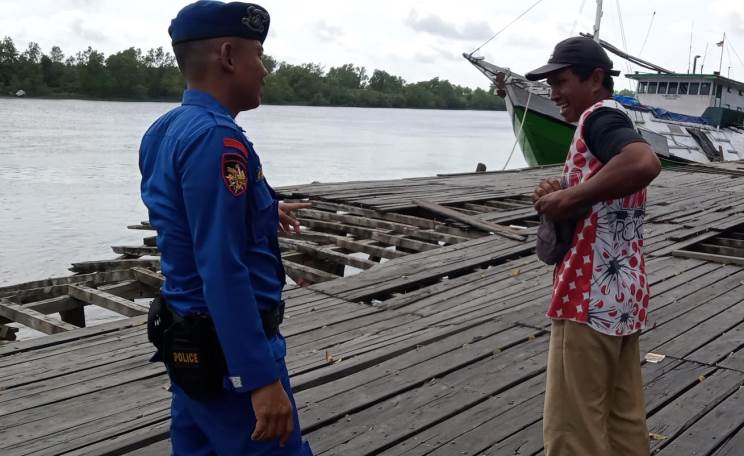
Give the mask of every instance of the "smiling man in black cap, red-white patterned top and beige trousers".
<path id="1" fill-rule="evenodd" d="M 540 183 L 535 209 L 575 223 L 556 265 L 543 435 L 546 456 L 648 456 L 639 363 L 649 287 L 643 258 L 646 187 L 661 164 L 612 97 L 612 62 L 589 38 L 556 45 L 529 80 L 577 128 L 563 183 Z"/>

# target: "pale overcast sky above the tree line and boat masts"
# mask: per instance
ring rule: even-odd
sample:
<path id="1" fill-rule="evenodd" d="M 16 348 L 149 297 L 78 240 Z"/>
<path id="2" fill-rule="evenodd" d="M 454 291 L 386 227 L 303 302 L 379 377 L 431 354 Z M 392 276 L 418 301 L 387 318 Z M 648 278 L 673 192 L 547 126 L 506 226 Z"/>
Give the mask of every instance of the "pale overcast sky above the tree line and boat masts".
<path id="1" fill-rule="evenodd" d="M 462 58 L 524 12 L 535 0 L 261 0 L 271 29 L 266 52 L 289 63 L 314 62 L 326 69 L 344 63 L 379 68 L 408 82 L 440 77 L 470 87 L 488 81 Z M 134 46 L 170 48 L 167 27 L 186 1 L 177 0 L 0 0 L 0 36 L 17 47 L 29 41 L 44 52 L 53 45 L 66 55 L 88 46 L 110 54 Z M 622 48 L 620 18 L 627 50 L 663 67 L 687 71 L 690 30 L 692 55 L 708 53 L 706 72 L 718 69 L 724 32 L 728 44 L 724 75 L 744 80 L 744 1 L 742 0 L 605 1 L 601 35 Z M 489 61 L 524 73 L 544 63 L 553 45 L 580 31 L 590 31 L 594 0 L 543 0 L 480 52 Z M 581 13 L 580 13 L 581 11 Z M 729 57 L 730 54 L 730 57 Z M 737 54 L 739 57 L 737 57 Z M 613 58 L 615 66 L 627 66 Z M 620 88 L 627 84 L 621 83 Z"/>

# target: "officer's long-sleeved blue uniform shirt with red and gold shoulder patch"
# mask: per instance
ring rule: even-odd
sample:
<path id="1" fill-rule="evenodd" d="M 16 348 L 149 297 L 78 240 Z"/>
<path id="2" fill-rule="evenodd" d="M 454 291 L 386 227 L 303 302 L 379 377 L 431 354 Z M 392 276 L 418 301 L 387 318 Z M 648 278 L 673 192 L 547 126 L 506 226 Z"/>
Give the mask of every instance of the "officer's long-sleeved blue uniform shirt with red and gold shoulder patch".
<path id="1" fill-rule="evenodd" d="M 216 99 L 187 90 L 145 133 L 139 165 L 166 302 L 211 315 L 236 389 L 274 382 L 260 312 L 279 304 L 285 278 L 277 201 L 253 144 Z"/>

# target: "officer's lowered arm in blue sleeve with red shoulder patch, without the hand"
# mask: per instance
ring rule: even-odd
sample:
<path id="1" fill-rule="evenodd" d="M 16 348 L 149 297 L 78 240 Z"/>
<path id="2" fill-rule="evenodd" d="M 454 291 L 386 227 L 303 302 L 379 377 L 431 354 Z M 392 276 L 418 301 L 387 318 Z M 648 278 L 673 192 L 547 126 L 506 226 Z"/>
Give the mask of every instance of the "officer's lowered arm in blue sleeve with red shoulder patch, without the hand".
<path id="1" fill-rule="evenodd" d="M 239 391 L 251 391 L 276 381 L 279 371 L 241 255 L 251 190 L 247 158 L 230 139 L 240 142 L 227 128 L 202 134 L 178 157 L 178 169 L 196 267 L 230 380 Z"/>

